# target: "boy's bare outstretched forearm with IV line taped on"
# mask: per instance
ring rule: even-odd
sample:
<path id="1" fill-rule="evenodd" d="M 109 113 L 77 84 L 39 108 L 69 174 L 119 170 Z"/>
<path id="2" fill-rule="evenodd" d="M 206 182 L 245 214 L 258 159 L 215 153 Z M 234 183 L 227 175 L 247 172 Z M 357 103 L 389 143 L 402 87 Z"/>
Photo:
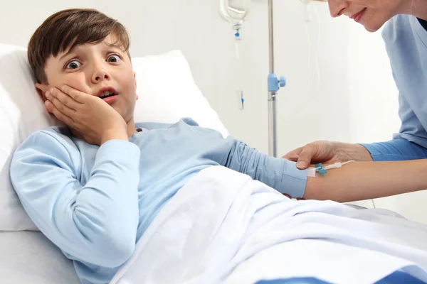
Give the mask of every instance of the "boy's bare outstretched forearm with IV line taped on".
<path id="1" fill-rule="evenodd" d="M 427 189 L 427 159 L 354 162 L 308 178 L 305 199 L 349 202 Z"/>

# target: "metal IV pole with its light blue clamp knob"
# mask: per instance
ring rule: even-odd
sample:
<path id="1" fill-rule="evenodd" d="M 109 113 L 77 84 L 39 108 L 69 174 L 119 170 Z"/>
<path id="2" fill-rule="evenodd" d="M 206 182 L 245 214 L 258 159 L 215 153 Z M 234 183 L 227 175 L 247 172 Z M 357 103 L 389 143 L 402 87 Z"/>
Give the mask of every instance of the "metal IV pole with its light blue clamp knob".
<path id="1" fill-rule="evenodd" d="M 285 87 L 285 77 L 274 74 L 274 34 L 273 34 L 273 0 L 268 0 L 268 48 L 270 74 L 268 75 L 268 153 L 278 156 L 277 124 L 276 124 L 276 94 L 280 87 Z"/>

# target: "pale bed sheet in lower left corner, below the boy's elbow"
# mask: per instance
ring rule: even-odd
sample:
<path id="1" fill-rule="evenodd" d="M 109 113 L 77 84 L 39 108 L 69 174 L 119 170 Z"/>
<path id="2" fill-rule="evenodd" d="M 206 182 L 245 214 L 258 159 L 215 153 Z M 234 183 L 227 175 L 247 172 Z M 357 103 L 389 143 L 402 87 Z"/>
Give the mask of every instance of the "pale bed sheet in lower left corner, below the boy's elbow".
<path id="1" fill-rule="evenodd" d="M 73 262 L 39 231 L 0 231 L 0 283 L 80 283 Z"/>

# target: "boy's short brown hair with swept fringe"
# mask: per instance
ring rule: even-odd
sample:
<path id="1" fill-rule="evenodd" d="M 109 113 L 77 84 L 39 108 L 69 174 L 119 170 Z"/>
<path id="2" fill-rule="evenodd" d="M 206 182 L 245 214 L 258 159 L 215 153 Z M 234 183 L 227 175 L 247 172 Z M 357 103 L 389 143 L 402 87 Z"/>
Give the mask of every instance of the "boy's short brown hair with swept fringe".
<path id="1" fill-rule="evenodd" d="M 67 9 L 48 17 L 28 43 L 28 62 L 37 82 L 48 84 L 45 67 L 48 58 L 85 43 L 100 43 L 114 35 L 130 58 L 130 39 L 125 26 L 95 9 Z"/>

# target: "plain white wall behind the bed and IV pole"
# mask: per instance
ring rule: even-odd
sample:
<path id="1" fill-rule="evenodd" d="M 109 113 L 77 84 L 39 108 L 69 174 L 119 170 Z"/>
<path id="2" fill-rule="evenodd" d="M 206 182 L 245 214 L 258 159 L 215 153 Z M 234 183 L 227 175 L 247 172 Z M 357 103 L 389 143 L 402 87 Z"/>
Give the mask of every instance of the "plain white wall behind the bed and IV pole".
<path id="1" fill-rule="evenodd" d="M 300 1 L 274 4 L 276 72 L 288 79 L 288 86 L 278 94 L 278 153 L 320 139 L 373 142 L 391 138 L 399 129 L 397 92 L 381 35 L 367 33 L 347 18 L 330 18 L 327 4 L 315 4 L 319 19 L 312 10 L 308 24 Z M 236 65 L 231 24 L 218 16 L 217 6 L 216 0 L 8 1 L 2 6 L 6 12 L 0 18 L 0 39 L 26 46 L 51 13 L 71 7 L 100 9 L 128 28 L 132 56 L 181 49 L 196 83 L 230 133 L 268 153 L 267 1 L 253 0 L 243 24 L 241 69 Z M 238 75 L 245 77 L 243 111 L 233 83 Z M 376 205 L 427 223 L 421 209 L 427 194 L 413 195 L 378 200 Z M 370 202 L 363 204 L 371 207 Z"/>

